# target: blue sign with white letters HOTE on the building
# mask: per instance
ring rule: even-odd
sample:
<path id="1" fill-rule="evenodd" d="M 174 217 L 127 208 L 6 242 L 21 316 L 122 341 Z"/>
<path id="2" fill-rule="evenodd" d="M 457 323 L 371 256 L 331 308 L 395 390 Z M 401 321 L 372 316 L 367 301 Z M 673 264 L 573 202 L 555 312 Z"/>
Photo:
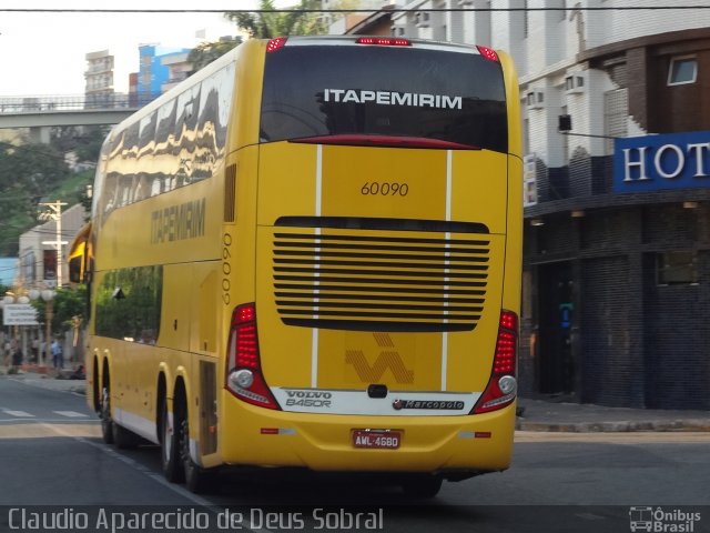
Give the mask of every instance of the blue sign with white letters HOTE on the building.
<path id="1" fill-rule="evenodd" d="M 617 139 L 613 192 L 710 187 L 710 131 Z"/>

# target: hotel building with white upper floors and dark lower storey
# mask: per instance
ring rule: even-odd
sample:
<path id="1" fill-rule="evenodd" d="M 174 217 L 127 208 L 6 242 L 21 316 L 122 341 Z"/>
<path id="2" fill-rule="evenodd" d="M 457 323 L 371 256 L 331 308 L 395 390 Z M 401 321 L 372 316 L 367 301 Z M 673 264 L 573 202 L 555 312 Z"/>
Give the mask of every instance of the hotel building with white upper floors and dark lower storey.
<path id="1" fill-rule="evenodd" d="M 516 61 L 524 395 L 710 409 L 710 9 L 650 3 L 415 0 L 390 17 L 395 37 Z"/>

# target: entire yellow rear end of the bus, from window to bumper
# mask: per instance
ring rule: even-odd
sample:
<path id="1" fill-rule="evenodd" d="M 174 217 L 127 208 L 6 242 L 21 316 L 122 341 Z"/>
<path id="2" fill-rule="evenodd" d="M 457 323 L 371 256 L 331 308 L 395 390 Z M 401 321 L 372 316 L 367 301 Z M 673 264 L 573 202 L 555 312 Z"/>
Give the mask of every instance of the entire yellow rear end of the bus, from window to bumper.
<path id="1" fill-rule="evenodd" d="M 508 466 L 521 213 L 501 61 L 272 41 L 225 462 L 452 479 Z"/>

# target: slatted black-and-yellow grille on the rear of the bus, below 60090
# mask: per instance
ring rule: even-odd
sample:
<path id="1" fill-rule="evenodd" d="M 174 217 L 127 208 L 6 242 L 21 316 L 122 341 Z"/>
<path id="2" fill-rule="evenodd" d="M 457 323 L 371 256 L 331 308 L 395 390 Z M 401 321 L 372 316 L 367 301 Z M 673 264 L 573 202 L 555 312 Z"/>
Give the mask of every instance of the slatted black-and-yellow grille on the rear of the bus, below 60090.
<path id="1" fill-rule="evenodd" d="M 274 296 L 285 324 L 368 331 L 476 326 L 486 298 L 489 235 L 320 231 L 274 234 Z"/>

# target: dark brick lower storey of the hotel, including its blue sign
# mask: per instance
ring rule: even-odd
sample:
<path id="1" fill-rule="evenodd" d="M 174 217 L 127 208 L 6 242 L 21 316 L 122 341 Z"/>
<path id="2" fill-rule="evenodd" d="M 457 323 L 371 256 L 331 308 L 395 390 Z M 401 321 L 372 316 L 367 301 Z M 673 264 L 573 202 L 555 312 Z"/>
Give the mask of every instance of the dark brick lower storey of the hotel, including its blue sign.
<path id="1" fill-rule="evenodd" d="M 521 393 L 710 409 L 710 132 L 613 153 L 538 169 L 598 185 L 526 208 Z"/>

